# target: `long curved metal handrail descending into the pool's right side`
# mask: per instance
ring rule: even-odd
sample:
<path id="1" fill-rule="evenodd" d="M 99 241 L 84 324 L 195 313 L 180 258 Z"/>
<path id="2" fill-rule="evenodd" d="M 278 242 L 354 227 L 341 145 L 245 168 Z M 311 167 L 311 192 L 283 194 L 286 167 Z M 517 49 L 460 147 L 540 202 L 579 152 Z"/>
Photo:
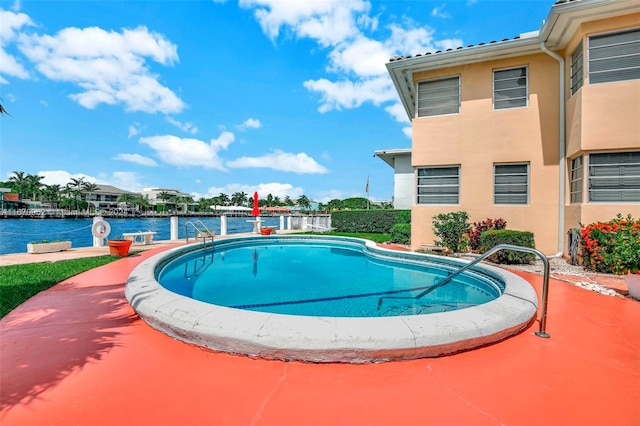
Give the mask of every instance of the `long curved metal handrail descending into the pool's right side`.
<path id="1" fill-rule="evenodd" d="M 548 301 L 548 298 L 549 298 L 549 259 L 542 252 L 540 252 L 540 251 L 538 251 L 538 250 L 536 250 L 534 248 L 530 248 L 530 247 L 514 246 L 514 245 L 511 245 L 511 244 L 499 244 L 499 245 L 497 245 L 495 247 L 492 247 L 491 249 L 489 249 L 485 253 L 483 253 L 481 256 L 479 256 L 477 259 L 475 259 L 473 262 L 468 263 L 463 268 L 458 269 L 456 272 L 454 272 L 453 274 L 449 275 L 448 277 L 446 277 L 442 281 L 437 282 L 433 286 L 429 287 L 428 289 L 424 290 L 423 292 L 421 292 L 421 293 L 419 293 L 419 294 L 417 294 L 415 296 L 383 296 L 383 297 L 381 297 L 380 299 L 378 299 L 378 309 L 380 309 L 380 306 L 382 305 L 382 301 L 384 299 L 420 299 L 420 298 L 426 296 L 427 294 L 431 293 L 432 291 L 434 291 L 438 287 L 442 287 L 443 285 L 450 283 L 451 280 L 453 280 L 458 275 L 462 274 L 464 271 L 472 268 L 476 264 L 482 262 L 487 257 L 491 256 L 492 254 L 494 254 L 494 253 L 496 253 L 496 252 L 498 252 L 500 250 L 514 250 L 514 251 L 521 251 L 521 252 L 525 252 L 525 253 L 532 253 L 532 254 L 537 255 L 542 260 L 542 263 L 544 264 L 544 273 L 543 273 L 544 275 L 542 277 L 542 301 L 541 301 L 541 309 L 540 309 L 540 329 L 538 331 L 536 331 L 535 334 L 536 334 L 536 336 L 543 337 L 543 338 L 551 337 L 545 330 L 546 326 L 547 326 L 547 301 Z"/>

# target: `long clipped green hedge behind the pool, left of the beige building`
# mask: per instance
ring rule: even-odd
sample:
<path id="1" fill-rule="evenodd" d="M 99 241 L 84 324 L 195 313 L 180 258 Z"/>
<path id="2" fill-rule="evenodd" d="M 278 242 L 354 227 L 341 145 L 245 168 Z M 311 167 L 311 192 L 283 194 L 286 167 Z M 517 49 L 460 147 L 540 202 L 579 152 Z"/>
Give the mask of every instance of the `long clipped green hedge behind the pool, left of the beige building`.
<path id="1" fill-rule="evenodd" d="M 331 213 L 331 227 L 336 232 L 388 234 L 393 225 L 406 221 L 405 212 L 407 210 L 340 210 Z"/>

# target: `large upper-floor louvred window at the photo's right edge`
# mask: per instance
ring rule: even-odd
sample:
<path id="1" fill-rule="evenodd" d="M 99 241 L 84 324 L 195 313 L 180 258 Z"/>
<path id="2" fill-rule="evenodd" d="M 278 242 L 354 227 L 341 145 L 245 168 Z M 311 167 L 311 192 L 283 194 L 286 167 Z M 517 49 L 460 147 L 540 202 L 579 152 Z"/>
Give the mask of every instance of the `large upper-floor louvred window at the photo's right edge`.
<path id="1" fill-rule="evenodd" d="M 626 47 L 626 51 L 623 50 L 622 52 L 615 52 L 617 53 L 617 55 L 613 55 L 613 56 L 607 56 L 604 58 L 594 58 L 593 56 L 593 51 L 596 51 L 596 49 L 606 49 L 607 47 L 605 46 L 600 46 L 600 47 L 592 47 L 591 43 L 593 39 L 599 39 L 599 38 L 605 38 L 605 37 L 613 37 L 619 34 L 625 34 L 625 33 L 637 33 L 638 34 L 638 40 L 632 40 L 629 42 L 621 42 L 621 43 L 614 43 L 608 46 L 608 48 L 612 48 L 612 46 L 621 48 Z M 638 50 L 634 50 L 634 49 L 640 49 L 640 28 L 627 28 L 625 30 L 622 31 L 611 31 L 611 32 L 607 32 L 607 33 L 600 33 L 600 34 L 591 34 L 588 37 L 588 43 L 587 43 L 587 49 L 586 52 L 588 54 L 588 60 L 587 60 L 587 73 L 588 73 L 588 77 L 589 77 L 589 84 L 606 84 L 606 83 L 615 83 L 615 82 L 620 82 L 620 81 L 630 81 L 630 80 L 637 80 L 640 79 L 640 62 L 638 62 L 637 64 L 624 64 L 624 63 L 618 63 L 618 68 L 613 68 L 610 70 L 594 70 L 594 65 L 597 64 L 601 64 L 604 63 L 605 61 L 612 61 L 612 60 L 618 60 L 622 61 L 625 60 L 624 58 L 627 59 L 635 59 L 636 61 L 640 61 L 640 51 Z M 594 77 L 597 76 L 611 76 L 613 73 L 620 73 L 620 72 L 628 72 L 631 75 L 630 76 L 620 76 L 618 75 L 615 78 L 609 78 L 606 81 L 593 81 Z M 597 79 L 596 79 L 597 80 Z"/>

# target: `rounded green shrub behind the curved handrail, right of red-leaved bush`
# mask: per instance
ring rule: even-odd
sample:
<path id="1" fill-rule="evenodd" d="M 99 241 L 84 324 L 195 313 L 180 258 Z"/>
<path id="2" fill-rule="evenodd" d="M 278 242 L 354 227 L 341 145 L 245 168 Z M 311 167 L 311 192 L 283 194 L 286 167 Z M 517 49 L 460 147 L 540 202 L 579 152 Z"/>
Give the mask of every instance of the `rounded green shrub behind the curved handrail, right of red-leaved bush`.
<path id="1" fill-rule="evenodd" d="M 536 248 L 533 233 L 528 231 L 513 231 L 511 229 L 489 230 L 480 234 L 480 251 L 482 253 L 499 244 L 512 244 L 522 247 Z M 500 250 L 487 259 L 500 264 L 525 264 L 535 260 L 536 255 L 514 250 Z"/>

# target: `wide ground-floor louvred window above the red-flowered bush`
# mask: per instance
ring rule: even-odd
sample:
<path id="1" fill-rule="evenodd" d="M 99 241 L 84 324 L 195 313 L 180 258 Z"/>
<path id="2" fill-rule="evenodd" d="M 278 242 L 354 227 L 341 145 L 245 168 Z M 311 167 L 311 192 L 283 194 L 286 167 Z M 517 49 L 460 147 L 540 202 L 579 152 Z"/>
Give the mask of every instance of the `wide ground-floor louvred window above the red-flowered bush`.
<path id="1" fill-rule="evenodd" d="M 589 201 L 640 202 L 640 151 L 590 154 Z"/>

